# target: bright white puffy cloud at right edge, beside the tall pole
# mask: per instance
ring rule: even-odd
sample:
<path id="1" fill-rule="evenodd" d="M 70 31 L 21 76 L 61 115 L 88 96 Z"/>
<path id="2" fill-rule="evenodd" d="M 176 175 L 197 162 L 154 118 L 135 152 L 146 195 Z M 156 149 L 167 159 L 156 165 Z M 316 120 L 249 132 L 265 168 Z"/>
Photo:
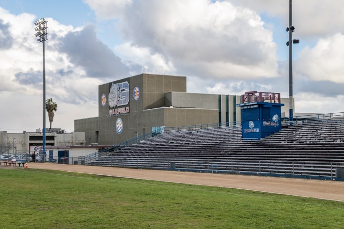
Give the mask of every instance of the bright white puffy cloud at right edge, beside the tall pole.
<path id="1" fill-rule="evenodd" d="M 305 47 L 295 64 L 297 73 L 309 80 L 344 83 L 344 34 L 336 33 Z"/>

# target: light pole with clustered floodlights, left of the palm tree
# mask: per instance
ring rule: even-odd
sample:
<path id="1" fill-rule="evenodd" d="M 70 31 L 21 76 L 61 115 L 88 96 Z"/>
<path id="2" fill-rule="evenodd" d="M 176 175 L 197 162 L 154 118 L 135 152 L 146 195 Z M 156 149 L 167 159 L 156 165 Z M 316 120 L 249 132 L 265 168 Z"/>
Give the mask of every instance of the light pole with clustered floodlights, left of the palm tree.
<path id="1" fill-rule="evenodd" d="M 37 41 L 43 43 L 43 157 L 46 154 L 46 53 L 45 41 L 47 41 L 47 21 L 44 18 L 39 19 L 35 23 L 34 34 Z M 43 160 L 44 161 L 44 160 Z"/>

